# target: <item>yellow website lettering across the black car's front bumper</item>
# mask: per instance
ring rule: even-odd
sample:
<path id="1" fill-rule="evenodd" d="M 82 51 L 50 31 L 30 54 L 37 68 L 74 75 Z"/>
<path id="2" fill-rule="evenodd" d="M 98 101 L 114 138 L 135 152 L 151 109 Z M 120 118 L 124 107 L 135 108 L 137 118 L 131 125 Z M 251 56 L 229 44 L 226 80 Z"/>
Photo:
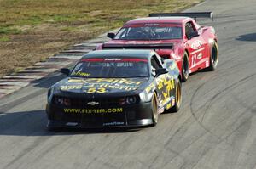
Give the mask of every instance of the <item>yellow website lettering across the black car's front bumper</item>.
<path id="1" fill-rule="evenodd" d="M 122 113 L 123 108 L 109 108 L 109 109 L 71 109 L 64 108 L 64 113 L 72 114 L 103 114 L 103 113 Z"/>

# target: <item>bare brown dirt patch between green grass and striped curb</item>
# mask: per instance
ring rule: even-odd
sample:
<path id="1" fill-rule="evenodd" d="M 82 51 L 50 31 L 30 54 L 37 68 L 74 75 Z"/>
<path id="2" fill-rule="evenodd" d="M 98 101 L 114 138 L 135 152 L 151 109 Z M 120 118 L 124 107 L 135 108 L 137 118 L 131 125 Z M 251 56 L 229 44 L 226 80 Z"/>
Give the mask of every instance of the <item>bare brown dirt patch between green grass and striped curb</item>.
<path id="1" fill-rule="evenodd" d="M 56 31 L 52 26 L 42 27 L 27 34 L 12 35 L 9 42 L 0 42 L 0 76 L 33 65 L 91 37 L 81 31 Z"/>

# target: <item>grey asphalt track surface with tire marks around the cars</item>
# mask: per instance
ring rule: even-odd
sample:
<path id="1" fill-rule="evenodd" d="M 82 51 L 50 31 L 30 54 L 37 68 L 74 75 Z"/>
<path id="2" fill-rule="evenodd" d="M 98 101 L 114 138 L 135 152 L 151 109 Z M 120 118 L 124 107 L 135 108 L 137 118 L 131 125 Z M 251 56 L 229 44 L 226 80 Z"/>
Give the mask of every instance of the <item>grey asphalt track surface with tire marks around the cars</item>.
<path id="1" fill-rule="evenodd" d="M 211 0 L 218 70 L 183 83 L 183 105 L 157 127 L 132 131 L 45 129 L 53 74 L 0 100 L 0 168 L 256 168 L 256 1 Z"/>

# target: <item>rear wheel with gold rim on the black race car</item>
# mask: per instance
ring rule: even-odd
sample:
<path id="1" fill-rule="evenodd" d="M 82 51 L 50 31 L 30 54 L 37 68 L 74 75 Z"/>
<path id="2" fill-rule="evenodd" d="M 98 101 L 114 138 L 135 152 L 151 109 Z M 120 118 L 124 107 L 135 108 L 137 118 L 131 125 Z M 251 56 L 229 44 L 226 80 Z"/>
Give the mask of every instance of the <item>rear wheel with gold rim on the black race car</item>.
<path id="1" fill-rule="evenodd" d="M 180 109 L 182 99 L 182 84 L 179 79 L 177 79 L 175 84 L 175 104 L 172 108 L 166 110 L 166 113 L 176 113 Z"/>

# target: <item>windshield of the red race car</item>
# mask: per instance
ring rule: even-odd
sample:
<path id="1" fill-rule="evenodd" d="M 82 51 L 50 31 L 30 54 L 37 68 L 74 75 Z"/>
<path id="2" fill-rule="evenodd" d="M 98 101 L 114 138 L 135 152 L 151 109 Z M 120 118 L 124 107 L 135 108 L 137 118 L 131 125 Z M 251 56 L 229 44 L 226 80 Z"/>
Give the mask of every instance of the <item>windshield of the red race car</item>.
<path id="1" fill-rule="evenodd" d="M 115 40 L 167 40 L 181 38 L 182 28 L 175 25 L 143 25 L 123 27 L 114 37 Z"/>

